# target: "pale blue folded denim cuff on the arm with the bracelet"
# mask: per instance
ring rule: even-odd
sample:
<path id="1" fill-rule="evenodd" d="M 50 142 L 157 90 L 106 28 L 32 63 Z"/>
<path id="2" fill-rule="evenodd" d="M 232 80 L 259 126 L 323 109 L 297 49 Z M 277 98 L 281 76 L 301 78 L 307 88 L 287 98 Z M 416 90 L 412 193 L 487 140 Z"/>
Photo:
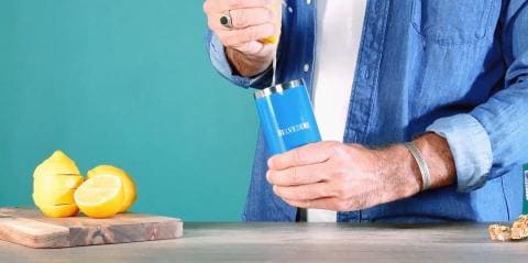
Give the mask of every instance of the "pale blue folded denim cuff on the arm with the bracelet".
<path id="1" fill-rule="evenodd" d="M 492 143 L 484 127 L 471 114 L 441 118 L 427 128 L 446 138 L 457 167 L 458 190 L 482 187 L 493 163 Z"/>

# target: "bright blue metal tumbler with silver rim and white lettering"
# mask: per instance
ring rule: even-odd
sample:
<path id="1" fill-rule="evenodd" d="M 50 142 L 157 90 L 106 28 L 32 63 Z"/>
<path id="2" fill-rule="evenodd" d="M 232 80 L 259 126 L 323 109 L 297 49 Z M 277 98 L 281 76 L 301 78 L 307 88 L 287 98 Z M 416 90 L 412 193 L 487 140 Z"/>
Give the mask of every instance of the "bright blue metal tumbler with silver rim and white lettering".
<path id="1" fill-rule="evenodd" d="M 321 141 L 301 79 L 258 90 L 254 98 L 261 128 L 273 155 Z"/>

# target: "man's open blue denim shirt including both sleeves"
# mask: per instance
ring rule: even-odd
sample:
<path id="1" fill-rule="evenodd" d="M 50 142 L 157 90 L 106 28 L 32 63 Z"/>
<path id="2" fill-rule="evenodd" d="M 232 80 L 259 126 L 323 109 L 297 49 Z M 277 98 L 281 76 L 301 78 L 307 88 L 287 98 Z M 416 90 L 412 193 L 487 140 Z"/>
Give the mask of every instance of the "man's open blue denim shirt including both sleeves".
<path id="1" fill-rule="evenodd" d="M 285 3 L 277 79 L 304 78 L 311 92 L 317 4 Z M 207 43 L 215 67 L 235 85 L 271 84 L 271 70 L 233 73 L 210 32 Z M 369 0 L 343 140 L 384 146 L 436 132 L 449 142 L 458 183 L 338 220 L 510 220 L 521 210 L 527 128 L 527 1 Z M 243 219 L 293 221 L 296 208 L 265 179 L 268 157 L 260 132 Z"/>

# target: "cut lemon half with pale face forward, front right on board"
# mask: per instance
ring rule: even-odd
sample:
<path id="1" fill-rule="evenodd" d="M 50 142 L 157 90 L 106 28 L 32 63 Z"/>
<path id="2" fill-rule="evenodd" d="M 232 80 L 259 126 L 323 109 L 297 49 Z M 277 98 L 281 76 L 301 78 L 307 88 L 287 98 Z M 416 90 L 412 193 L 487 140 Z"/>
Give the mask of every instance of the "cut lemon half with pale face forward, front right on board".
<path id="1" fill-rule="evenodd" d="M 94 176 L 80 185 L 74 197 L 86 216 L 110 218 L 116 216 L 123 205 L 123 184 L 117 175 Z"/>

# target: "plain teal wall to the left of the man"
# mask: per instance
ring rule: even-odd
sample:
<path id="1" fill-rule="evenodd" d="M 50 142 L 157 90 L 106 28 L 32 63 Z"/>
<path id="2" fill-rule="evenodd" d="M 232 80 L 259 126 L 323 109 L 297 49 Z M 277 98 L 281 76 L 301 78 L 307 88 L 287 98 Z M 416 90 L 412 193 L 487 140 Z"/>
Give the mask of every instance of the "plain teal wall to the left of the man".
<path id="1" fill-rule="evenodd" d="M 0 207 L 32 205 L 61 149 L 136 180 L 134 211 L 239 220 L 256 135 L 251 91 L 206 55 L 202 1 L 0 1 Z"/>

